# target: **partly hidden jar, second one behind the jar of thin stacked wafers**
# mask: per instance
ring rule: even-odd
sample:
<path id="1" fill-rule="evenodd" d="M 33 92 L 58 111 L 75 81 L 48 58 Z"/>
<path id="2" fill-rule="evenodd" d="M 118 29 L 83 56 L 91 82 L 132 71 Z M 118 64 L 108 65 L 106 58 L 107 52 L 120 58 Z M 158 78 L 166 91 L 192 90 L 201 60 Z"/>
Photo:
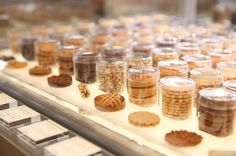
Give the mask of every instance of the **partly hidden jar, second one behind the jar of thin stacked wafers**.
<path id="1" fill-rule="evenodd" d="M 155 48 L 152 51 L 152 63 L 153 67 L 157 67 L 157 63 L 163 60 L 175 60 L 178 59 L 178 52 L 174 48 L 162 47 Z"/>

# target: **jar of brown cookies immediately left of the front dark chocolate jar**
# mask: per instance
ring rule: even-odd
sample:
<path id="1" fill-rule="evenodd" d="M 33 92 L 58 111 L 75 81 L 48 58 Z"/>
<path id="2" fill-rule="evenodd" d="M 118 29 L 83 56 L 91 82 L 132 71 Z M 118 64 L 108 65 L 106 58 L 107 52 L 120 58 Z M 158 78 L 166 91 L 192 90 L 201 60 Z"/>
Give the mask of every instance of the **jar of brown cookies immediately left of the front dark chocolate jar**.
<path id="1" fill-rule="evenodd" d="M 60 74 L 74 74 L 73 55 L 77 51 L 76 46 L 66 45 L 58 49 L 58 63 Z"/>

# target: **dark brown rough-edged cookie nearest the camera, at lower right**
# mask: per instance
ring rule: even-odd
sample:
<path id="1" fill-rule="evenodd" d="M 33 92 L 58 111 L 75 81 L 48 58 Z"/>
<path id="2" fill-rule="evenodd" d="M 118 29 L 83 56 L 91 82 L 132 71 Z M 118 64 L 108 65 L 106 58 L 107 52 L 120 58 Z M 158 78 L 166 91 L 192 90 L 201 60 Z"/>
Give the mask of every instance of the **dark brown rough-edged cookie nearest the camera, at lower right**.
<path id="1" fill-rule="evenodd" d="M 171 131 L 165 135 L 165 141 L 169 144 L 179 147 L 195 146 L 200 144 L 202 136 L 195 132 L 189 132 L 186 130 Z"/>

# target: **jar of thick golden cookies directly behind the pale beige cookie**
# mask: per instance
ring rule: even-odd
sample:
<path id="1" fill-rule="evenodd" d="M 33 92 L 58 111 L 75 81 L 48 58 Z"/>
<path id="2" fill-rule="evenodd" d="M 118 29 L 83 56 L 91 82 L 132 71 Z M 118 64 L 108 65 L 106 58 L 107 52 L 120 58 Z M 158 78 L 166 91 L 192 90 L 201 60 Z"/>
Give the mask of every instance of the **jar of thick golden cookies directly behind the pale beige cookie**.
<path id="1" fill-rule="evenodd" d="M 133 67 L 128 71 L 129 101 L 149 106 L 157 102 L 159 70 L 154 67 Z"/>

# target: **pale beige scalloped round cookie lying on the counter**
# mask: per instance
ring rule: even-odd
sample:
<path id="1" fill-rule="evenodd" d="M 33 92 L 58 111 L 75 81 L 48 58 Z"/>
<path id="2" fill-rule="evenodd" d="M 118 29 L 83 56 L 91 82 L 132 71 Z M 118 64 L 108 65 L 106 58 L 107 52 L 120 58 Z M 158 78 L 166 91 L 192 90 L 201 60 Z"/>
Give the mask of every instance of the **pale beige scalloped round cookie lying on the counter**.
<path id="1" fill-rule="evenodd" d="M 131 124 L 139 127 L 151 127 L 160 123 L 160 117 L 151 112 L 134 112 L 128 117 Z"/>

